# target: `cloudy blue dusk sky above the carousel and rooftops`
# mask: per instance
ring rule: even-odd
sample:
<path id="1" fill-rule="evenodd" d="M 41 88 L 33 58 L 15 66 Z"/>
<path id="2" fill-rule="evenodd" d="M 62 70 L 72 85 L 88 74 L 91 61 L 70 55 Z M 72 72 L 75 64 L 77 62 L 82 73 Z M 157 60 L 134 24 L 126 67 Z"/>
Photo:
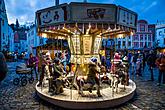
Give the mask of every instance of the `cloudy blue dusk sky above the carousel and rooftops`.
<path id="1" fill-rule="evenodd" d="M 33 22 L 35 12 L 39 9 L 53 6 L 55 0 L 5 0 L 9 24 L 18 18 L 20 24 Z M 60 0 L 62 3 L 82 2 L 83 0 Z M 157 20 L 165 21 L 165 0 L 87 0 L 92 3 L 113 3 L 121 5 L 138 13 L 139 19 L 145 19 L 150 24 Z"/>

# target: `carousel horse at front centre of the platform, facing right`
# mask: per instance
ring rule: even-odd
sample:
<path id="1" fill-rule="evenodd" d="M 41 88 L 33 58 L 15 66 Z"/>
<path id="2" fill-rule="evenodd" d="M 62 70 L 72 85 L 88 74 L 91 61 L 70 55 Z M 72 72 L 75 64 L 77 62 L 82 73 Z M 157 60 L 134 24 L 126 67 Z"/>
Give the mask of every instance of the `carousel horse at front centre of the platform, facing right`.
<path id="1" fill-rule="evenodd" d="M 78 85 L 78 93 L 83 96 L 83 89 L 89 90 L 92 93 L 94 85 L 96 85 L 98 97 L 102 97 L 100 93 L 100 82 L 97 74 L 100 74 L 98 66 L 94 63 L 89 64 L 89 72 L 87 76 L 77 76 L 76 82 Z"/>

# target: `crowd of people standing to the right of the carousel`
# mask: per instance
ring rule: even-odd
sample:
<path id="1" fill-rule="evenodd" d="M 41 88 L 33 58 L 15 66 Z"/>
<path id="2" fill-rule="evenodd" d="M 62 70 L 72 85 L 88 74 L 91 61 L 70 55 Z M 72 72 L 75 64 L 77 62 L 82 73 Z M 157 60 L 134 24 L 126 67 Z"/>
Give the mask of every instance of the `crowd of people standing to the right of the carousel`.
<path id="1" fill-rule="evenodd" d="M 148 66 L 148 71 L 150 73 L 150 77 L 148 81 L 154 81 L 154 68 L 159 70 L 158 73 L 158 85 L 165 85 L 165 53 L 157 53 L 154 50 L 150 51 L 134 51 L 134 52 L 116 52 L 116 55 L 111 58 L 105 58 L 105 56 L 101 56 L 101 64 L 105 65 L 107 70 L 112 70 L 113 61 L 121 60 L 123 63 L 128 61 L 129 73 L 131 75 L 143 76 L 145 68 Z M 117 55 L 119 54 L 119 55 Z M 114 60 L 113 60 L 114 59 Z M 126 61 L 126 62 L 127 62 Z M 163 78 L 162 78 L 163 76 Z M 163 79 L 163 81 L 161 81 Z"/>

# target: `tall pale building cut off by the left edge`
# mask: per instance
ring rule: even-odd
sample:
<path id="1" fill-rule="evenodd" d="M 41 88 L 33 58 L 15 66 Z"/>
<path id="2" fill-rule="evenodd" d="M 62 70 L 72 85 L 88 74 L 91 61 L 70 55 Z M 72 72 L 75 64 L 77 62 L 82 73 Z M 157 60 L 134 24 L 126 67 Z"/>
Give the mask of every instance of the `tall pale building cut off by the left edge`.
<path id="1" fill-rule="evenodd" d="M 4 0 L 0 0 L 0 51 L 2 50 L 8 50 L 8 19 Z"/>

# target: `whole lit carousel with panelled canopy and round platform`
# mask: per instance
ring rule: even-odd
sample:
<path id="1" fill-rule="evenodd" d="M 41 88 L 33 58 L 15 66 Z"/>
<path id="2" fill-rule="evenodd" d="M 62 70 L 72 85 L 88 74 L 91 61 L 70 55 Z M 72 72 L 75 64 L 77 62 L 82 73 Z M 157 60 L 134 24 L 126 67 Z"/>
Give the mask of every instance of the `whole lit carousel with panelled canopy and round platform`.
<path id="1" fill-rule="evenodd" d="M 122 61 L 114 53 L 107 70 L 99 53 L 103 39 L 135 33 L 135 12 L 114 4 L 71 2 L 38 10 L 36 18 L 38 35 L 67 40 L 71 53 L 67 74 L 56 79 L 45 75 L 42 85 L 36 84 L 41 99 L 63 108 L 96 109 L 123 104 L 134 96 L 136 84 L 123 63 L 127 58 Z"/>

